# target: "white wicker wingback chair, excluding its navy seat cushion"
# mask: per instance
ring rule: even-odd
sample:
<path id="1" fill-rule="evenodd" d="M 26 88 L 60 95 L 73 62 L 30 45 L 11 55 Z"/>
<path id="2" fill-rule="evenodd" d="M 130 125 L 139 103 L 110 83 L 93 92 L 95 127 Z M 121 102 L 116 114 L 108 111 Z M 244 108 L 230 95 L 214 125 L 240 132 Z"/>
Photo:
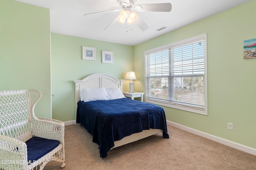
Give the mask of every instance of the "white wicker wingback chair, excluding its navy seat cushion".
<path id="1" fill-rule="evenodd" d="M 0 170 L 42 170 L 51 160 L 65 166 L 64 123 L 35 117 L 34 107 L 40 97 L 38 90 L 0 92 Z M 25 142 L 34 136 L 57 140 L 58 146 L 29 162 Z"/>

